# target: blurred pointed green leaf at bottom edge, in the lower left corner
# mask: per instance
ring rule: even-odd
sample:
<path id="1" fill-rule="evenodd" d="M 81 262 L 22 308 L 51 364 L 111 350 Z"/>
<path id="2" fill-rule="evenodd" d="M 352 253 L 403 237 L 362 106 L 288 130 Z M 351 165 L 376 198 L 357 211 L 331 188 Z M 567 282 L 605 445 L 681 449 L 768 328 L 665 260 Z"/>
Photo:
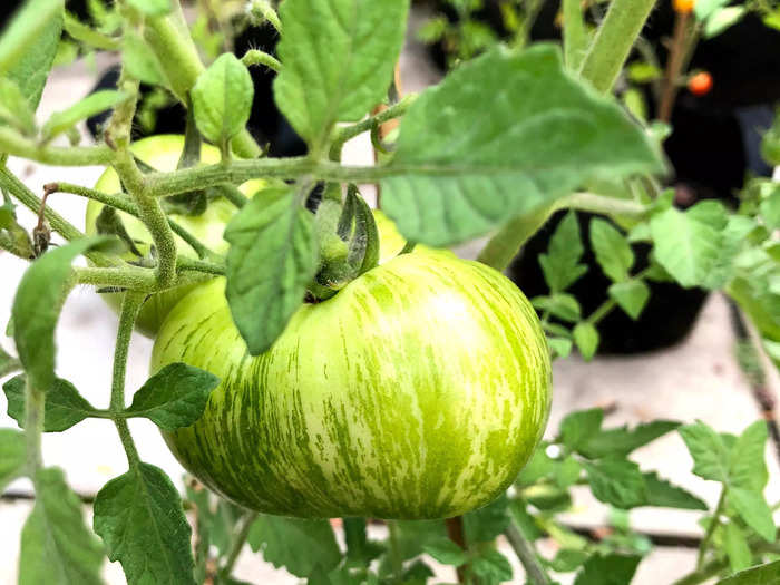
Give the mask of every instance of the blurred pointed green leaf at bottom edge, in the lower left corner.
<path id="1" fill-rule="evenodd" d="M 36 474 L 36 505 L 21 532 L 19 583 L 100 584 L 104 550 L 61 469 Z"/>

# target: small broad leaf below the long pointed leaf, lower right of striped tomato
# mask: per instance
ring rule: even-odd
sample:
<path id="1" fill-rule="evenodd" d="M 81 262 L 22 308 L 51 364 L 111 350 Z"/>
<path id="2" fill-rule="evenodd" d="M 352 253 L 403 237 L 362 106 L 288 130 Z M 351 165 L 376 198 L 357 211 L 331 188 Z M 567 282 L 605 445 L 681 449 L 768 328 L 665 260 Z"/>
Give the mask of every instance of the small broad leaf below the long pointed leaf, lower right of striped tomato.
<path id="1" fill-rule="evenodd" d="M 583 464 L 593 495 L 622 509 L 647 504 L 647 489 L 640 466 L 627 459 L 599 459 Z"/>

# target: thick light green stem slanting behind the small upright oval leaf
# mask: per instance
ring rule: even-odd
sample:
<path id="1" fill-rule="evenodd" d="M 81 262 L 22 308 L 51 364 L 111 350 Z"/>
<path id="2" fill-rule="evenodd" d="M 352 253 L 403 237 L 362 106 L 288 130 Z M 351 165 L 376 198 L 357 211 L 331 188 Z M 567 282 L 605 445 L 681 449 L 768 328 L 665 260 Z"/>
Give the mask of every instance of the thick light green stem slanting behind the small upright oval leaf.
<path id="1" fill-rule="evenodd" d="M 174 4 L 174 16 L 181 17 L 181 6 L 178 2 Z M 189 90 L 204 71 L 204 67 L 197 48 L 183 25 L 183 18 L 177 22 L 172 18 L 173 16 L 147 19 L 144 37 L 163 66 L 170 90 L 186 106 Z M 256 158 L 261 154 L 260 146 L 246 129 L 234 137 L 231 145 L 236 155 L 244 158 Z"/>

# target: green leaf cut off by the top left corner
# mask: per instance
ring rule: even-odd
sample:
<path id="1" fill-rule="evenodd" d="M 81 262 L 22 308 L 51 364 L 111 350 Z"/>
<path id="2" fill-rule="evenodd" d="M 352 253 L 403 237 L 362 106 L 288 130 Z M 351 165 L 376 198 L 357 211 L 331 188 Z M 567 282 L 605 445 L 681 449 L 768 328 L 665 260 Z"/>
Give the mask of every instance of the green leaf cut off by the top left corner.
<path id="1" fill-rule="evenodd" d="M 62 0 L 28 0 L 0 35 L 0 77 L 14 81 L 35 110 L 62 32 Z"/>

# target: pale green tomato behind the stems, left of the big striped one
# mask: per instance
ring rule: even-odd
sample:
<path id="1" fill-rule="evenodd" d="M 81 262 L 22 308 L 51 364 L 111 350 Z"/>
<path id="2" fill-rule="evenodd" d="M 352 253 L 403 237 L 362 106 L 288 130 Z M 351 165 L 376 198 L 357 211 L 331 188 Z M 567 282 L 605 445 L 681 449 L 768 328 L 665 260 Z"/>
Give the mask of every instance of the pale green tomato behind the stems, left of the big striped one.
<path id="1" fill-rule="evenodd" d="M 158 170 L 175 170 L 178 164 L 178 158 L 182 155 L 182 148 L 184 147 L 184 137 L 178 135 L 162 135 L 153 136 L 150 138 L 144 138 L 134 143 L 130 149 L 136 157 L 146 163 L 147 165 L 158 169 Z M 220 150 L 211 145 L 204 144 L 201 148 L 201 160 L 204 164 L 216 164 L 220 162 Z M 264 185 L 263 181 L 250 181 L 244 183 L 240 188 L 244 194 L 253 195 Z M 97 191 L 108 194 L 116 194 L 121 192 L 121 185 L 119 183 L 119 177 L 113 168 L 106 169 L 106 172 L 100 176 L 97 184 L 95 185 Z M 89 201 L 87 205 L 87 218 L 86 218 L 86 232 L 91 235 L 96 233 L 97 228 L 95 222 L 100 214 L 104 205 L 101 203 Z M 218 198 L 214 199 L 208 204 L 208 208 L 202 215 L 170 215 L 170 218 L 181 224 L 191 234 L 197 237 L 203 244 L 209 250 L 224 254 L 227 252 L 227 242 L 222 238 L 222 234 L 225 231 L 225 225 L 236 213 L 236 208 L 233 204 L 228 203 L 226 199 Z M 123 212 L 118 212 L 121 222 L 127 230 L 127 233 L 136 242 L 138 242 L 138 248 L 146 253 L 149 250 L 149 244 L 152 243 L 152 235 L 146 230 L 146 226 L 131 215 Z M 184 242 L 178 236 L 176 237 L 176 244 L 178 247 L 178 253 L 196 259 L 197 254 L 189 247 L 189 245 Z M 126 255 L 126 260 L 133 261 L 138 260 L 131 253 Z M 168 314 L 168 311 L 189 291 L 192 291 L 196 285 L 181 286 L 170 291 L 165 291 L 159 294 L 155 294 L 147 299 L 144 306 L 140 310 L 138 320 L 136 321 L 136 329 L 153 338 L 160 323 Z M 103 294 L 101 295 L 106 302 L 116 311 L 119 310 L 121 305 L 121 294 Z"/>

